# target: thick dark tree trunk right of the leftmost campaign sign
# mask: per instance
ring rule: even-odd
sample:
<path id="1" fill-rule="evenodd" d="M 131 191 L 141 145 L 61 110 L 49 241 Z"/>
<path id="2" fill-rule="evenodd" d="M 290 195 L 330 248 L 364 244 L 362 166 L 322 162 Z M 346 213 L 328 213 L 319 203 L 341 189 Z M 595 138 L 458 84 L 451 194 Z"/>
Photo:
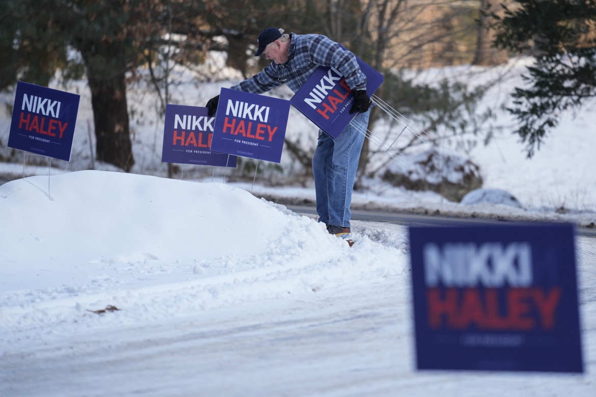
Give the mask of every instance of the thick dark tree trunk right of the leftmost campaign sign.
<path id="1" fill-rule="evenodd" d="M 98 48 L 98 46 L 89 46 Z M 117 43 L 108 46 L 110 54 L 89 54 L 82 51 L 87 65 L 91 89 L 91 105 L 97 137 L 97 160 L 108 162 L 126 172 L 135 164 L 126 104 L 125 64 Z M 101 61 L 98 61 L 98 58 Z"/>

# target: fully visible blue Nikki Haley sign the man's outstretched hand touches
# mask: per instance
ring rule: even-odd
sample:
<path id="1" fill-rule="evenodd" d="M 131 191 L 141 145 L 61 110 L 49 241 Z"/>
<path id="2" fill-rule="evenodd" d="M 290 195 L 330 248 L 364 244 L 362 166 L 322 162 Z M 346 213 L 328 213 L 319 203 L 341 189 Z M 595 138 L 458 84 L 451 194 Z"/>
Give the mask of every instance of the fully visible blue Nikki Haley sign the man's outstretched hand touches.
<path id="1" fill-rule="evenodd" d="M 222 88 L 211 149 L 280 162 L 290 102 Z"/>

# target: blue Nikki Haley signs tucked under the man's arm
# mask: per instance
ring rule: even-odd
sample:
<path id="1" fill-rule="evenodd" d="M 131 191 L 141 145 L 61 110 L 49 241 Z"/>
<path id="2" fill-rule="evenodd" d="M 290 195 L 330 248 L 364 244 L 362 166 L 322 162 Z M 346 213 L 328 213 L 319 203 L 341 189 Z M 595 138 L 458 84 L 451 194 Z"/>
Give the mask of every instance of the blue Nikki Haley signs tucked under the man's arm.
<path id="1" fill-rule="evenodd" d="M 373 95 L 383 75 L 356 57 L 367 76 L 367 94 Z M 346 79 L 335 68 L 318 67 L 290 99 L 290 103 L 331 137 L 338 137 L 356 114 L 350 114 L 354 97 Z"/>

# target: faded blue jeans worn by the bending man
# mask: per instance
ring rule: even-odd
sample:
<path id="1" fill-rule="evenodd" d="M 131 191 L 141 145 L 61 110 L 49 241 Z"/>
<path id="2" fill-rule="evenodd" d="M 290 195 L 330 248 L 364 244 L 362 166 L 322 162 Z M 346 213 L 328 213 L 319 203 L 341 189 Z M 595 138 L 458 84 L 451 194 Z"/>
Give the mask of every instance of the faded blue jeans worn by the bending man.
<path id="1" fill-rule="evenodd" d="M 350 202 L 370 110 L 356 114 L 337 139 L 319 130 L 319 142 L 312 158 L 315 177 L 316 212 L 319 222 L 350 226 Z"/>

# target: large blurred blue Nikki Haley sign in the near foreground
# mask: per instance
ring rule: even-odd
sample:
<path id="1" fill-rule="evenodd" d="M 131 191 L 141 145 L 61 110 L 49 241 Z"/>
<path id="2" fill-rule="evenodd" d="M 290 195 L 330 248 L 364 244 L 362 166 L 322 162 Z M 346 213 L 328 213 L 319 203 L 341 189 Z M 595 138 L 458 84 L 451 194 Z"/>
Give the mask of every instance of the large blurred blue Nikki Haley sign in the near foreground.
<path id="1" fill-rule="evenodd" d="M 418 369 L 583 372 L 571 225 L 409 238 Z"/>

